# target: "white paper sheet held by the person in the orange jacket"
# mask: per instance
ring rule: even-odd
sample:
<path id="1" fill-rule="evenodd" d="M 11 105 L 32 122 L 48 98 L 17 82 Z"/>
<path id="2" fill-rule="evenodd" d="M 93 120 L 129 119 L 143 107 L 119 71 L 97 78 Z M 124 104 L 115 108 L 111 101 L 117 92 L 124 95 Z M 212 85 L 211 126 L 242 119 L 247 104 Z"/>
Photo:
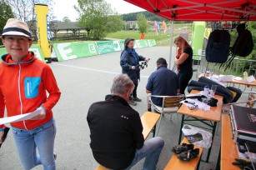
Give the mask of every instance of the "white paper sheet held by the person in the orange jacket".
<path id="1" fill-rule="evenodd" d="M 8 122 L 19 122 L 19 121 L 23 121 L 23 120 L 28 120 L 30 118 L 38 116 L 41 111 L 42 111 L 42 109 L 40 108 L 40 109 L 38 109 L 34 112 L 28 112 L 28 113 L 20 114 L 20 115 L 13 116 L 13 117 L 0 118 L 0 125 L 1 124 L 6 124 Z"/>

